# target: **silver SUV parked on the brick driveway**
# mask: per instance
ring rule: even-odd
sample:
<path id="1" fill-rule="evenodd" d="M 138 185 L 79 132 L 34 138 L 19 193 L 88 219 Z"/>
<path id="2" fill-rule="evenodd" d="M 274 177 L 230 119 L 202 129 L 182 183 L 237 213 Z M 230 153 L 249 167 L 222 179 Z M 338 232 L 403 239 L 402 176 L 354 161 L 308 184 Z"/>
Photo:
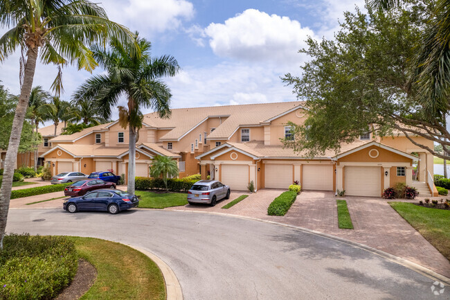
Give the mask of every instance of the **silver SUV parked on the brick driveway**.
<path id="1" fill-rule="evenodd" d="M 229 199 L 230 193 L 230 187 L 217 180 L 200 180 L 188 191 L 188 202 L 215 206 L 217 200 Z"/>

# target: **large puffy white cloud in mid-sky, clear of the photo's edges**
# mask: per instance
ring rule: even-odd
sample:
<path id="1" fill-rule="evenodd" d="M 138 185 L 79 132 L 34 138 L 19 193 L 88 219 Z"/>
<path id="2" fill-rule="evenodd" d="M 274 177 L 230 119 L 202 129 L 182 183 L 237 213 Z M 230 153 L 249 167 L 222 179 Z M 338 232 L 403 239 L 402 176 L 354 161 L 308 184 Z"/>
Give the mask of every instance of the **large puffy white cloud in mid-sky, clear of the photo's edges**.
<path id="1" fill-rule="evenodd" d="M 307 36 L 314 32 L 289 17 L 268 15 L 255 9 L 227 19 L 224 24 L 212 23 L 204 29 L 216 55 L 237 60 L 296 63 L 298 50 L 305 46 Z"/>

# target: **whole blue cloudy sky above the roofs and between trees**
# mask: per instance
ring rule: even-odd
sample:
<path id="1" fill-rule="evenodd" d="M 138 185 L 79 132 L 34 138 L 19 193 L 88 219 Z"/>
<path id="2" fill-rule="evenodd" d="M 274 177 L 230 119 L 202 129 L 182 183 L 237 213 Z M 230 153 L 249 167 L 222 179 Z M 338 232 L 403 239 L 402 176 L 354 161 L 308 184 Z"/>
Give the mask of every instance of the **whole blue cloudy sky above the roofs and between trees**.
<path id="1" fill-rule="evenodd" d="M 100 0 L 109 18 L 173 55 L 182 71 L 165 81 L 172 108 L 295 100 L 280 76 L 298 74 L 307 36 L 332 38 L 344 10 L 363 0 Z M 0 34 L 6 28 L 0 28 Z M 98 69 L 96 72 L 101 72 Z M 50 89 L 54 66 L 38 65 L 34 85 Z M 65 100 L 91 76 L 64 69 Z M 19 53 L 0 65 L 0 80 L 19 94 Z M 123 100 L 125 103 L 125 100 Z"/>

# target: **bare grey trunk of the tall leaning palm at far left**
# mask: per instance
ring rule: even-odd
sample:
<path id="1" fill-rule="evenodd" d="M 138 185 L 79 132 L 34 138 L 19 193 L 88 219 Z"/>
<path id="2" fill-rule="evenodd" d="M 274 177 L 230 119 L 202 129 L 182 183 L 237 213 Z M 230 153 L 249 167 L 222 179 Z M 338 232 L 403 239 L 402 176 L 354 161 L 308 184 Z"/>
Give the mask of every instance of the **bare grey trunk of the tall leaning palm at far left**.
<path id="1" fill-rule="evenodd" d="M 28 98 L 30 98 L 33 78 L 35 76 L 37 48 L 28 48 L 26 53 L 26 66 L 24 71 L 24 84 L 22 85 L 19 103 L 17 103 L 14 120 L 12 121 L 11 136 L 8 143 L 8 150 L 5 158 L 5 169 L 3 172 L 3 182 L 0 191 L 0 249 L 3 249 L 3 238 L 5 236 L 6 220 L 8 220 L 8 210 L 10 208 L 12 176 L 17 163 L 17 150 L 19 150 L 20 133 L 24 127 Z M 18 134 L 15 134 L 17 132 Z"/>

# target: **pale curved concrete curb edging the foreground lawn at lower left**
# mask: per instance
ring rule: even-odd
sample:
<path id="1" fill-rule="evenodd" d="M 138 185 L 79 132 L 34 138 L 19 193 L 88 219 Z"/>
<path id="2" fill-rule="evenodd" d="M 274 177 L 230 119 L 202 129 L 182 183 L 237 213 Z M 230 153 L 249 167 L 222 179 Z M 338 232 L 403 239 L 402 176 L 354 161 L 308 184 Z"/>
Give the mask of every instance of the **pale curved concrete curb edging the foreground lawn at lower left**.
<path id="1" fill-rule="evenodd" d="M 133 249 L 136 249 L 138 252 L 142 252 L 143 254 L 148 256 L 152 261 L 154 261 L 156 265 L 158 265 L 159 270 L 161 270 L 161 273 L 163 273 L 163 278 L 165 281 L 165 292 L 168 300 L 183 300 L 183 292 L 181 292 L 181 285 L 177 279 L 177 276 L 167 263 L 164 263 L 164 261 L 162 261 L 161 258 L 152 254 L 151 252 L 148 252 L 145 249 L 136 247 L 134 245 L 128 244 L 125 245 L 132 247 Z"/>

